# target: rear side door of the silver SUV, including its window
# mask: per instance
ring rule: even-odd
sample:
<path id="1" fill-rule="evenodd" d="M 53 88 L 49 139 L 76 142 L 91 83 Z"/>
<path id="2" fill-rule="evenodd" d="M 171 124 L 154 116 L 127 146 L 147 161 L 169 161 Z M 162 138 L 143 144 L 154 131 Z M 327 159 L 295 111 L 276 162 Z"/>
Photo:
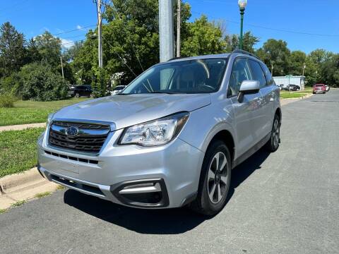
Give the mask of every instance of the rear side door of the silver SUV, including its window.
<path id="1" fill-rule="evenodd" d="M 252 77 L 260 83 L 260 93 L 262 98 L 260 101 L 261 110 L 260 114 L 258 114 L 260 119 L 255 121 L 256 142 L 258 143 L 265 138 L 268 133 L 270 133 L 270 129 L 272 127 L 273 91 L 267 84 L 267 80 L 260 63 L 254 59 L 249 59 L 249 65 L 251 67 Z"/>

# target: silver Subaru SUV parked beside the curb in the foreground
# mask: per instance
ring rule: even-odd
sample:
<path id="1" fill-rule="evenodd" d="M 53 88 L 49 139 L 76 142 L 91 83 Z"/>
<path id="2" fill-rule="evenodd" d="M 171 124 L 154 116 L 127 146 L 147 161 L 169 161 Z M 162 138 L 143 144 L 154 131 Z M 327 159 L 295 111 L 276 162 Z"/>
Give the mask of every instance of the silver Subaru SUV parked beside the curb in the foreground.
<path id="1" fill-rule="evenodd" d="M 119 95 L 49 116 L 37 143 L 42 176 L 121 205 L 222 210 L 231 171 L 280 138 L 279 87 L 256 56 L 173 59 Z"/>

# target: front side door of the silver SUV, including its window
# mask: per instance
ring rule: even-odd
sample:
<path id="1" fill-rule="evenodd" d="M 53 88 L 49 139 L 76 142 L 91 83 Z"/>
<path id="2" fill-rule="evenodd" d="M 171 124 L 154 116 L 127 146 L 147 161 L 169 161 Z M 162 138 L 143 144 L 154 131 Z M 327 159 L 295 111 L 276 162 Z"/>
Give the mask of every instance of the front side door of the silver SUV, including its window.
<path id="1" fill-rule="evenodd" d="M 234 128 L 237 130 L 237 157 L 244 155 L 256 144 L 256 130 L 258 116 L 261 114 L 261 93 L 244 95 L 242 102 L 238 101 L 240 85 L 244 80 L 253 80 L 248 60 L 244 57 L 237 57 L 232 66 L 230 82 L 228 85 L 227 97 L 232 100 L 234 112 Z"/>

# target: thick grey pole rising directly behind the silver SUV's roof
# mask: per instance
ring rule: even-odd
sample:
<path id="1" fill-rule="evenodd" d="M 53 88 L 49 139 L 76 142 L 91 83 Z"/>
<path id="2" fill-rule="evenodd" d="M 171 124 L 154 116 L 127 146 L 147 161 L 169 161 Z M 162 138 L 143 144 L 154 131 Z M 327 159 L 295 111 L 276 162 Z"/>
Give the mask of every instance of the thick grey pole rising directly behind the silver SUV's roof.
<path id="1" fill-rule="evenodd" d="M 173 42 L 173 3 L 172 0 L 159 0 L 160 62 L 174 57 Z"/>

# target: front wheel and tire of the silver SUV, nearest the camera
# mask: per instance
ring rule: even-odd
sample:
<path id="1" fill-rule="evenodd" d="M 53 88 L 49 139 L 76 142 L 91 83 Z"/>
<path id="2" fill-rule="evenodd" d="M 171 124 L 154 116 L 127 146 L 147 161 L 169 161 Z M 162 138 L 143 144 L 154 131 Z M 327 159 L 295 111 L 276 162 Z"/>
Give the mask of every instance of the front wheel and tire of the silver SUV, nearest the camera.
<path id="1" fill-rule="evenodd" d="M 219 167 L 217 167 L 217 158 L 219 158 Z M 222 210 L 230 190 L 231 166 L 230 151 L 227 146 L 222 141 L 215 140 L 208 147 L 203 159 L 198 195 L 191 203 L 192 210 L 205 215 L 214 215 Z"/>

